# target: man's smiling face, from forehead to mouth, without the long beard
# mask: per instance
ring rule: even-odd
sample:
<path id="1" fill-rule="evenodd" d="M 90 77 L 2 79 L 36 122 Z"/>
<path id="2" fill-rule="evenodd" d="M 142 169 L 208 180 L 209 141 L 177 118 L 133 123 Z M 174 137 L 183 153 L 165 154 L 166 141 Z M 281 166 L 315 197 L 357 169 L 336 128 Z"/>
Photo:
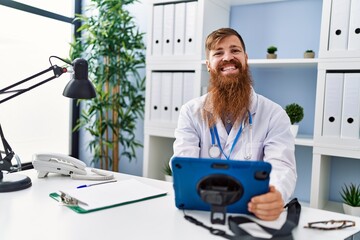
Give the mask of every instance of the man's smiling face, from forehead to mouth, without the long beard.
<path id="1" fill-rule="evenodd" d="M 221 76 L 239 74 L 239 68 L 245 69 L 246 64 L 247 54 L 240 39 L 235 35 L 224 37 L 207 53 L 208 70 Z"/>

